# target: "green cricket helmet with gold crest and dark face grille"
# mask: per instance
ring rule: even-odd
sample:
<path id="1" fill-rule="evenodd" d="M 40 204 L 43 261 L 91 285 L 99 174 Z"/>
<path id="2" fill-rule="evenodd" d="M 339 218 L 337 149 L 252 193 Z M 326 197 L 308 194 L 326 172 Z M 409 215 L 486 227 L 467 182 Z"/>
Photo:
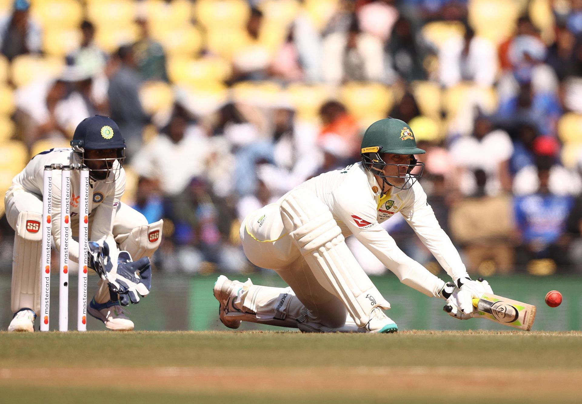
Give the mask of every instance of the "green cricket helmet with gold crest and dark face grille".
<path id="1" fill-rule="evenodd" d="M 386 165 L 402 166 L 403 164 L 386 163 L 382 160 L 382 153 L 411 155 L 410 164 L 406 164 L 407 180 L 402 186 L 392 184 L 388 178 L 404 178 L 403 176 L 384 175 L 383 172 Z M 424 163 L 418 162 L 414 155 L 424 153 L 427 152 L 416 147 L 416 140 L 410 126 L 395 118 L 380 119 L 372 123 L 364 133 L 360 150 L 364 167 L 382 178 L 382 182 L 399 189 L 410 189 L 423 175 Z"/>

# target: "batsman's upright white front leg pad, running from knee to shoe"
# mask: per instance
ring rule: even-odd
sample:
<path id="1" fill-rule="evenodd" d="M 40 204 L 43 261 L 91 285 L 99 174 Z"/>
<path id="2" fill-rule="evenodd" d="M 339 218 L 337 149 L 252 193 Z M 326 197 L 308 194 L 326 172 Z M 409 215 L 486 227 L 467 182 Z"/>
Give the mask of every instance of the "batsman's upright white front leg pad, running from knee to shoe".
<path id="1" fill-rule="evenodd" d="M 281 218 L 314 277 L 345 304 L 358 327 L 375 307 L 390 309 L 374 283 L 347 248 L 331 211 L 310 190 L 298 188 L 281 203 Z"/>

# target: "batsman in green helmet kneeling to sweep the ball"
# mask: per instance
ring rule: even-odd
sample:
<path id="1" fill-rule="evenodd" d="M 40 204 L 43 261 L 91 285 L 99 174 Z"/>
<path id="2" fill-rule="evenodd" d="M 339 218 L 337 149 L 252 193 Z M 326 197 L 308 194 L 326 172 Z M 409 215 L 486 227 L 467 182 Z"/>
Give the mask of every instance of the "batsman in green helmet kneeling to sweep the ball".
<path id="1" fill-rule="evenodd" d="M 241 321 L 295 327 L 304 332 L 396 332 L 390 309 L 345 243 L 353 235 L 400 282 L 447 301 L 450 316 L 472 317 L 473 297 L 492 293 L 473 281 L 439 226 L 417 181 L 424 164 L 410 126 L 381 119 L 366 130 L 361 162 L 323 173 L 276 203 L 251 212 L 240 227 L 243 249 L 258 267 L 270 268 L 288 288 L 218 277 L 214 296 L 229 328 Z M 379 223 L 400 212 L 452 278 L 445 282 L 406 256 Z"/>

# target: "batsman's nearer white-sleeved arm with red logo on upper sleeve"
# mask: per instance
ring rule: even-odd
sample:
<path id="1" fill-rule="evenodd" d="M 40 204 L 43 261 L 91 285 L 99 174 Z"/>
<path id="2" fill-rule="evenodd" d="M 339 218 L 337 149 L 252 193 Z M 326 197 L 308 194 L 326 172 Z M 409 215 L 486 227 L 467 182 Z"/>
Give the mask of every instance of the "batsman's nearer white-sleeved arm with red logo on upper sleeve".
<path id="1" fill-rule="evenodd" d="M 439 297 L 439 292 L 445 282 L 435 277 L 417 261 L 404 254 L 396 245 L 394 239 L 378 225 L 374 201 L 358 201 L 346 205 L 346 197 L 336 199 L 336 214 L 347 225 L 354 236 L 367 247 L 404 285 L 408 285 L 427 296 Z M 352 195 L 352 201 L 354 196 Z M 338 201 L 342 206 L 338 207 Z M 355 208 L 360 203 L 359 208 Z M 354 208 L 352 208 L 352 206 Z M 369 225 L 359 227 L 353 215 L 369 222 Z M 360 221 L 360 224 L 362 222 Z"/>

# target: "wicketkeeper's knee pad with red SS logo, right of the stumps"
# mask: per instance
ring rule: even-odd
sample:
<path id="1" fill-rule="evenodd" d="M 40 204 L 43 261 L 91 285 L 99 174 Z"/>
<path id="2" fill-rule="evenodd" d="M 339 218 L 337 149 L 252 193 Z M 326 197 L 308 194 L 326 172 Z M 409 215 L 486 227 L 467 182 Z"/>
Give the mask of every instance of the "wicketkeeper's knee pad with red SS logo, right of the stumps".
<path id="1" fill-rule="evenodd" d="M 137 226 L 127 234 L 117 235 L 115 242 L 119 244 L 119 250 L 127 251 L 134 261 L 143 257 L 151 258 L 162 242 L 162 226 L 163 220 Z"/>

